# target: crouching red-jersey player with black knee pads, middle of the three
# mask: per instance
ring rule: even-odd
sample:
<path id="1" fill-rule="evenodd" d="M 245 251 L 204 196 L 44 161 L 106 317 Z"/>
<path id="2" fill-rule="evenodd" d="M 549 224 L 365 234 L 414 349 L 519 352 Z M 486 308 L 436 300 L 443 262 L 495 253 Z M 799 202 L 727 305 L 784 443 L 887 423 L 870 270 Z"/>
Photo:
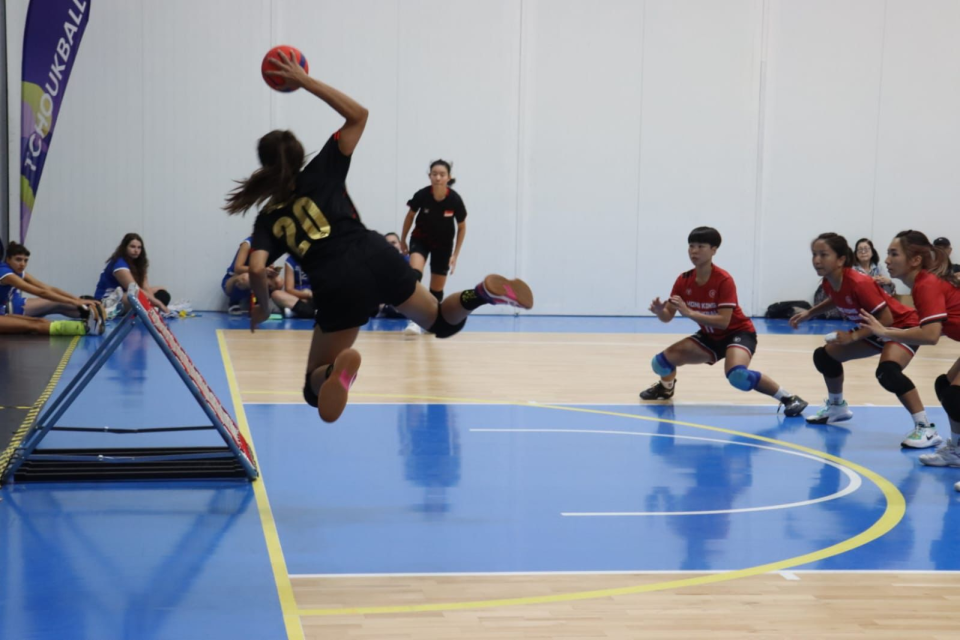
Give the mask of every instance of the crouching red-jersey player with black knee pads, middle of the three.
<path id="1" fill-rule="evenodd" d="M 827 299 L 790 318 L 794 329 L 801 322 L 833 308 L 838 309 L 844 319 L 857 325 L 861 323 L 860 309 L 868 310 L 885 327 L 907 329 L 919 324 L 916 311 L 892 298 L 873 278 L 852 268 L 855 264 L 853 250 L 846 238 L 836 233 L 822 233 L 810 243 L 810 250 L 813 268 L 823 277 Z M 927 419 L 920 392 L 903 374 L 917 348 L 915 344 L 879 338 L 861 326 L 828 336 L 828 343 L 813 352 L 813 364 L 823 374 L 828 397 L 819 411 L 807 417 L 807 422 L 835 424 L 852 418 L 853 412 L 843 399 L 843 363 L 880 354 L 877 380 L 884 389 L 897 396 L 913 418 L 913 430 L 901 445 L 923 449 L 939 444 L 940 436 Z"/>

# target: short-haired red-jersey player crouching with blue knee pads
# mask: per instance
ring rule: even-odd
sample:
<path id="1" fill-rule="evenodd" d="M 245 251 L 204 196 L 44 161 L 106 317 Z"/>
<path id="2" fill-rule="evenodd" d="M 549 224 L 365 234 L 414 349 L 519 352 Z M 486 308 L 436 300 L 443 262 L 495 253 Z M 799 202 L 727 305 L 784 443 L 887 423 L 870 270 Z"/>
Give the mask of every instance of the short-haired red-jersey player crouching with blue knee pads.
<path id="1" fill-rule="evenodd" d="M 661 322 L 670 322 L 679 313 L 700 325 L 700 331 L 665 351 L 651 361 L 660 379 L 640 392 L 644 400 L 668 400 L 676 389 L 677 367 L 685 364 L 714 364 L 726 358 L 727 380 L 741 391 L 772 396 L 784 405 L 788 417 L 799 416 L 807 403 L 785 391 L 759 371 L 749 369 L 757 350 L 757 332 L 737 303 L 737 287 L 730 274 L 713 264 L 720 247 L 720 232 L 712 227 L 697 227 L 687 238 L 687 254 L 694 269 L 677 278 L 670 298 L 655 299 L 650 305 Z"/>

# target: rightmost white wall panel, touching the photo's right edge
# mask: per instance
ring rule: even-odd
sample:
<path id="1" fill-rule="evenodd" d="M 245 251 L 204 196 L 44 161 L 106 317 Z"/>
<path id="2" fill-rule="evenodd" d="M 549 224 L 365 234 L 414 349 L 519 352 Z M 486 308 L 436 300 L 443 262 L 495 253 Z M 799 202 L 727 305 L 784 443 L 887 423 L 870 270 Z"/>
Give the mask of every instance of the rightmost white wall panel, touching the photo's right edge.
<path id="1" fill-rule="evenodd" d="M 960 246 L 960 3 L 891 1 L 880 87 L 873 228 Z M 958 250 L 954 257 L 960 260 Z"/>

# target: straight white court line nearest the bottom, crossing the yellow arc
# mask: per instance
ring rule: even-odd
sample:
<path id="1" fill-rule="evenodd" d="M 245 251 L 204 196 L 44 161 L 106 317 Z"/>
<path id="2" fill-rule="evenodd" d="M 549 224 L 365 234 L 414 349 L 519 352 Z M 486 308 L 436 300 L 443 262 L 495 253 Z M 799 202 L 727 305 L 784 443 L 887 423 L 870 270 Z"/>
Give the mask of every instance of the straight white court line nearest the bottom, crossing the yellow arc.
<path id="1" fill-rule="evenodd" d="M 622 575 L 707 575 L 716 573 L 729 573 L 732 569 L 709 569 L 697 571 L 695 569 L 676 569 L 676 570 L 657 570 L 647 571 L 629 569 L 617 571 L 451 571 L 445 572 L 424 572 L 424 573 L 291 573 L 291 578 L 482 578 L 486 576 L 622 576 Z M 768 576 L 782 575 L 787 572 L 771 571 L 764 574 Z M 818 574 L 880 574 L 880 575 L 960 575 L 960 571 L 937 571 L 930 570 L 904 570 L 897 569 L 800 569 L 789 573 L 798 575 L 818 575 Z"/>

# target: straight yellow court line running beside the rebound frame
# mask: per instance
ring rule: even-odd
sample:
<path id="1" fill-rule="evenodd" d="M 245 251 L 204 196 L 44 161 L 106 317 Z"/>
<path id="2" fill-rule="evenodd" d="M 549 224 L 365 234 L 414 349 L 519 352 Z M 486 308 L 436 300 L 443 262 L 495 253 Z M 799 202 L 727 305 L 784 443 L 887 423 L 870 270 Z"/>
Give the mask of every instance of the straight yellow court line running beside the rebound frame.
<path id="1" fill-rule="evenodd" d="M 253 445 L 253 436 L 247 424 L 247 414 L 240 399 L 240 387 L 233 372 L 233 363 L 230 352 L 223 337 L 223 330 L 217 329 L 217 343 L 220 345 L 220 357 L 223 368 L 227 373 L 227 383 L 230 385 L 230 399 L 233 401 L 233 412 L 237 416 L 237 426 L 243 437 L 247 439 L 254 459 L 257 459 L 256 448 Z M 257 499 L 257 511 L 260 513 L 260 525 L 263 527 L 263 538 L 267 545 L 267 554 L 270 557 L 270 566 L 273 569 L 273 580 L 277 584 L 277 595 L 280 598 L 280 609 L 283 613 L 283 624 L 287 630 L 288 640 L 304 640 L 303 627 L 297 613 L 297 601 L 293 596 L 293 585 L 290 583 L 290 574 L 287 572 L 287 562 L 280 547 L 280 535 L 277 533 L 277 523 L 273 519 L 270 509 L 270 500 L 263 482 L 263 470 L 260 470 L 260 479 L 253 482 L 253 493 Z"/>

